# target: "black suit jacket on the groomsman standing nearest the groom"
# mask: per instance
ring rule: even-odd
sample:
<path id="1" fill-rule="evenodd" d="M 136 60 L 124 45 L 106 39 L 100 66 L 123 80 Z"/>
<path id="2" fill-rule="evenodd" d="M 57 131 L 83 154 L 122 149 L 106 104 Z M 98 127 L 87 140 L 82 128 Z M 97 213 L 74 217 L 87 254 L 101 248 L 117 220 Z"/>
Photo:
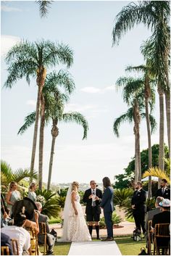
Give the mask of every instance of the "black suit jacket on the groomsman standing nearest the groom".
<path id="1" fill-rule="evenodd" d="M 146 211 L 146 191 L 140 189 L 139 191 L 135 190 L 133 197 L 131 199 L 131 205 L 135 205 L 134 211 L 144 210 Z"/>

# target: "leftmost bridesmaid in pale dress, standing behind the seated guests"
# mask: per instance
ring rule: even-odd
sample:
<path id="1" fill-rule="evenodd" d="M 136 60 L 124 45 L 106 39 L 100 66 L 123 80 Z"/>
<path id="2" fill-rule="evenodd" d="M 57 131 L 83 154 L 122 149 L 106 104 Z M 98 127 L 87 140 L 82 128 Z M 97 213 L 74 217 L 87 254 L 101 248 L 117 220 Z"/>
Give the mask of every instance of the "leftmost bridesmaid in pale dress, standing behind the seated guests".
<path id="1" fill-rule="evenodd" d="M 9 191 L 7 192 L 7 207 L 10 210 L 10 213 L 12 214 L 12 205 L 14 205 L 14 203 L 17 200 L 20 200 L 21 196 L 20 196 L 20 191 L 17 190 L 17 183 L 12 181 L 9 185 Z"/>

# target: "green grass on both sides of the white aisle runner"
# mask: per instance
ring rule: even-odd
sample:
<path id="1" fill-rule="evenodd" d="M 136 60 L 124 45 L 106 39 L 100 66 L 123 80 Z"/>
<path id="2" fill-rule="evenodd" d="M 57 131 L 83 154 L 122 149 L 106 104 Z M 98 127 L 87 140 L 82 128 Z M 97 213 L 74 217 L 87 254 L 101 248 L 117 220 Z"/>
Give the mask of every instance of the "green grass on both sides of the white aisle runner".
<path id="1" fill-rule="evenodd" d="M 96 239 L 93 239 L 96 241 Z M 97 240 L 99 241 L 99 240 Z M 130 236 L 114 238 L 122 255 L 138 255 L 141 252 L 141 247 L 146 247 L 146 240 L 133 241 Z M 71 243 L 56 242 L 54 246 L 54 255 L 68 255 Z M 40 251 L 43 252 L 43 246 L 40 246 Z"/>

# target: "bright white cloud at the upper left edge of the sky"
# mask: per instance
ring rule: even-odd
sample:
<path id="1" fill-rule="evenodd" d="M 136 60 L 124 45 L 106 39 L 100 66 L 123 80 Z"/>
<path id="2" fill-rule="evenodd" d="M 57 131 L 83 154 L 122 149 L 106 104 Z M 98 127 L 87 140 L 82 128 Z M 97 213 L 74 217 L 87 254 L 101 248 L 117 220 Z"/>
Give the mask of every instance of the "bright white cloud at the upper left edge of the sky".
<path id="1" fill-rule="evenodd" d="M 17 36 L 6 36 L 2 35 L 1 36 L 1 56 L 4 56 L 7 54 L 9 49 L 14 46 L 14 44 L 17 44 L 21 39 Z"/>

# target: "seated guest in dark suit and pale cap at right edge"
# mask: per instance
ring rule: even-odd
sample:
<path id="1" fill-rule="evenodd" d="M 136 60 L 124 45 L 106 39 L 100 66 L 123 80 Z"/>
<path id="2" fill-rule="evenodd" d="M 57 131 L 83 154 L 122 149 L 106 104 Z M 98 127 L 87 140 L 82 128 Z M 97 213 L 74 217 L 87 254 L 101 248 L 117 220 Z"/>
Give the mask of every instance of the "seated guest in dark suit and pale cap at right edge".
<path id="1" fill-rule="evenodd" d="M 170 199 L 163 199 L 162 202 L 159 202 L 159 206 L 162 207 L 162 212 L 154 215 L 152 220 L 152 231 L 154 232 L 154 228 L 156 224 L 159 223 L 170 223 Z M 168 244 L 170 239 L 158 238 L 157 244 L 160 247 L 164 247 Z"/>

